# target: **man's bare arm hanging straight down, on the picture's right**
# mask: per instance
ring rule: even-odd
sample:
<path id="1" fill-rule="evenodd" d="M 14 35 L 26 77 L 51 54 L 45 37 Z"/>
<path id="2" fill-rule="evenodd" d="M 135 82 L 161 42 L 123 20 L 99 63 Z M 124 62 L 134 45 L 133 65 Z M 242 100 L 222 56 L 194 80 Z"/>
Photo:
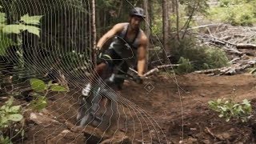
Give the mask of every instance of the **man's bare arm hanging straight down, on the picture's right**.
<path id="1" fill-rule="evenodd" d="M 138 75 L 142 77 L 146 66 L 146 49 L 148 46 L 148 38 L 143 35 L 141 38 L 141 45 L 138 47 Z"/>

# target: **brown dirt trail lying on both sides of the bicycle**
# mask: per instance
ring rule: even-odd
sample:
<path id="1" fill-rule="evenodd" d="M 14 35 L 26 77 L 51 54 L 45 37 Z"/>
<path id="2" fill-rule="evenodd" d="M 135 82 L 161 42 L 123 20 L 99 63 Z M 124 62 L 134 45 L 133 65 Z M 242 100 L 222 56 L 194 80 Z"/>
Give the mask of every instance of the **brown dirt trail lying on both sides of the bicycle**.
<path id="1" fill-rule="evenodd" d="M 254 143 L 254 127 L 235 120 L 225 122 L 207 108 L 209 100 L 232 95 L 238 101 L 252 99 L 255 108 L 254 76 L 186 74 L 176 78 L 178 85 L 173 75 L 153 76 L 144 85 L 126 82 L 122 97 L 130 102 L 118 106 L 118 124 L 111 134 L 122 131 L 133 143 L 178 143 L 182 139 L 183 143 Z M 147 83 L 154 86 L 150 92 L 144 88 Z M 23 143 L 85 143 L 82 133 L 70 131 L 75 125 L 80 91 L 50 94 L 49 105 L 42 112 L 50 120 L 38 124 L 28 120 Z M 30 113 L 26 118 L 30 119 Z"/>

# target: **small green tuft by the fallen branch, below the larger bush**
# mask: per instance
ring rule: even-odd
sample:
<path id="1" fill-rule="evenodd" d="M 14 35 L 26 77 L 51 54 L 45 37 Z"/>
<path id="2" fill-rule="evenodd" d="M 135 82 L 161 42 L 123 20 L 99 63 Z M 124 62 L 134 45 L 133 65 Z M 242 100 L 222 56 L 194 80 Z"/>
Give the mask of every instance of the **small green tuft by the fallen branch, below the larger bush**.
<path id="1" fill-rule="evenodd" d="M 178 64 L 179 64 L 177 68 L 178 74 L 187 74 L 193 70 L 193 66 L 191 65 L 189 59 L 181 57 L 179 58 Z"/>

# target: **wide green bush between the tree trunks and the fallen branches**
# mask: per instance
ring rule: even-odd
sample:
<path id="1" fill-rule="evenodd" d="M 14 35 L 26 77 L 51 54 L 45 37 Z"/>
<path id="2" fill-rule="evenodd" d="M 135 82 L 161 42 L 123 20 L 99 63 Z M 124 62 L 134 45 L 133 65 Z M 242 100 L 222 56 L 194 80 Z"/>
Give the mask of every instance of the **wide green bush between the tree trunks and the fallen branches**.
<path id="1" fill-rule="evenodd" d="M 170 42 L 175 43 L 175 42 Z M 206 70 L 228 66 L 226 53 L 218 48 L 198 45 L 194 38 L 183 38 L 180 45 L 172 45 L 170 54 L 174 56 L 174 62 L 180 58 L 189 59 L 193 68 L 191 70 Z"/>

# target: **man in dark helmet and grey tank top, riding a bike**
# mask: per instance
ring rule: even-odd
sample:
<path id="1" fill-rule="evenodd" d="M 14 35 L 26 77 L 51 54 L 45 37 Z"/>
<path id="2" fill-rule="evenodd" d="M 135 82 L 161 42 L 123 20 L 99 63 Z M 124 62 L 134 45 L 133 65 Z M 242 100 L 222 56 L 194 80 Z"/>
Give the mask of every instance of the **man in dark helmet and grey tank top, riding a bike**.
<path id="1" fill-rule="evenodd" d="M 101 54 L 98 56 L 98 65 L 95 67 L 95 73 L 91 81 L 82 90 L 84 96 L 90 95 L 92 83 L 97 74 L 102 75 L 108 66 L 120 66 L 121 71 L 118 74 L 126 73 L 130 66 L 134 66 L 137 62 L 138 80 L 142 80 L 142 75 L 146 65 L 146 48 L 148 46 L 148 38 L 143 30 L 140 29 L 140 23 L 146 16 L 144 10 L 140 7 L 135 7 L 130 10 L 129 22 L 118 23 L 106 32 L 99 39 L 96 50 Z M 113 38 L 109 48 L 102 52 L 102 46 L 109 39 Z M 121 89 L 123 79 L 119 81 L 118 89 Z"/>

